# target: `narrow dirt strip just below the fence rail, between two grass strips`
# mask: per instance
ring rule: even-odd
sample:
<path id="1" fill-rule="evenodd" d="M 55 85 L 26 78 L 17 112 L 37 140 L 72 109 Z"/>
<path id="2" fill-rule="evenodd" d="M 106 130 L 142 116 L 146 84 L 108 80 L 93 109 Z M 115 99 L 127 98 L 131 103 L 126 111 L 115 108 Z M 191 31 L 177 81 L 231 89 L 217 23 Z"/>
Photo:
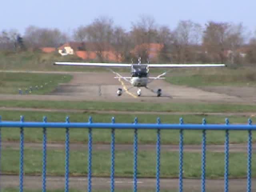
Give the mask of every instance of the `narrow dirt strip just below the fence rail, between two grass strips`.
<path id="1" fill-rule="evenodd" d="M 19 142 L 1 142 L 2 148 L 12 148 L 19 150 L 20 143 Z M 32 149 L 42 149 L 41 143 L 25 143 L 25 148 L 32 148 Z M 116 144 L 116 150 L 133 150 L 132 144 Z M 252 148 L 256 148 L 256 144 L 252 145 Z M 48 143 L 47 149 L 49 150 L 64 150 L 65 144 L 64 143 Z M 80 144 L 80 143 L 71 143 L 70 144 L 71 150 L 87 150 L 87 144 Z M 110 151 L 110 144 L 93 144 L 93 150 L 108 150 Z M 156 145 L 154 144 L 139 144 L 138 150 L 148 150 L 148 151 L 155 151 Z M 206 150 L 210 152 L 224 152 L 224 145 L 207 145 Z M 178 145 L 161 145 L 161 151 L 169 151 L 169 152 L 178 152 L 179 146 Z M 201 145 L 184 145 L 185 152 L 198 152 L 202 151 Z M 230 144 L 229 145 L 230 152 L 247 152 L 247 144 Z"/>

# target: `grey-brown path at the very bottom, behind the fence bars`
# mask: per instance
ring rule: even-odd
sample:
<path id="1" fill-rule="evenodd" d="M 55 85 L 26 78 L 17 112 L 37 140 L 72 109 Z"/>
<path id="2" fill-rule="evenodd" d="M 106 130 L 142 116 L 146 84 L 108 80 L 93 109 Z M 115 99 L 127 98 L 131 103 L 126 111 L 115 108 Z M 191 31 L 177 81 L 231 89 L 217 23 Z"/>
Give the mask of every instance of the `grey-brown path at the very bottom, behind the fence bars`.
<path id="1" fill-rule="evenodd" d="M 2 188 L 18 188 L 19 176 L 2 175 L 1 178 Z M 46 187 L 48 190 L 64 189 L 64 177 L 48 176 L 46 179 Z M 160 179 L 161 190 L 178 191 L 178 179 Z M 24 188 L 25 189 L 41 189 L 42 178 L 41 176 L 25 176 Z M 70 177 L 69 187 L 71 189 L 86 190 L 87 177 Z M 115 188 L 117 190 L 133 189 L 132 178 L 115 178 Z M 138 178 L 138 190 L 155 190 L 156 180 L 154 178 Z M 92 190 L 109 190 L 110 178 L 92 178 Z M 200 191 L 200 179 L 184 179 L 183 180 L 184 192 Z M 246 191 L 246 179 L 230 179 L 229 189 L 232 192 Z M 219 192 L 224 190 L 224 180 L 206 180 L 207 192 Z M 256 179 L 252 179 L 252 191 L 256 190 Z"/>

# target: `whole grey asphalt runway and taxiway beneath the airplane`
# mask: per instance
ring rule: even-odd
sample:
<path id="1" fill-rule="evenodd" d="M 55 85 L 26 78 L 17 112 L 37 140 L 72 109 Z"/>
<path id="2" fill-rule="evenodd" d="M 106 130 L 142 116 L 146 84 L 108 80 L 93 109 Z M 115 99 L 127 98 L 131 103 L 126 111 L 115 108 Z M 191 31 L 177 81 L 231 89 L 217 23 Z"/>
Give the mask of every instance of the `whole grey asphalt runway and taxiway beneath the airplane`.
<path id="1" fill-rule="evenodd" d="M 15 71 L 19 72 L 19 71 Z M 33 71 L 32 71 L 33 72 Z M 34 72 L 35 73 L 35 72 Z M 39 72 L 40 73 L 40 72 Z M 68 72 L 41 72 L 41 73 L 63 73 Z M 232 95 L 229 92 L 217 88 L 214 90 L 203 90 L 186 86 L 169 84 L 164 80 L 154 80 L 148 87 L 152 90 L 162 89 L 162 96 L 142 88 L 142 96 L 136 95 L 137 88 L 132 87 L 122 79 L 114 79 L 112 72 L 70 72 L 74 76 L 70 83 L 60 84 L 56 90 L 48 95 L 12 95 L 0 94 L 0 100 L 98 100 L 115 102 L 225 102 L 225 103 L 256 103 L 251 94 Z M 129 73 L 122 73 L 129 76 Z M 171 75 L 171 74 L 170 74 Z M 152 75 L 154 76 L 154 74 Z M 155 75 L 156 76 L 156 75 Z M 122 96 L 117 96 L 118 88 L 128 89 Z M 130 89 L 131 88 L 131 89 Z M 253 89 L 252 92 L 255 90 Z M 236 92 L 239 92 L 238 90 Z"/>

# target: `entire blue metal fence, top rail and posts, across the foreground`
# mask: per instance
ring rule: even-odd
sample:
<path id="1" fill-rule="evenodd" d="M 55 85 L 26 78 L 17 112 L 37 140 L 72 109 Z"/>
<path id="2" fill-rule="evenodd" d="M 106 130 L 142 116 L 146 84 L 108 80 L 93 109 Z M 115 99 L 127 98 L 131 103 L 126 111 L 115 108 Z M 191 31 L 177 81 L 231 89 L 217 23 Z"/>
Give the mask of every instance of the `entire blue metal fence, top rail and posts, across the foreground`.
<path id="1" fill-rule="evenodd" d="M 42 128 L 42 192 L 46 192 L 46 129 L 47 128 L 65 128 L 65 192 L 69 191 L 69 131 L 70 128 L 88 128 L 88 192 L 92 191 L 92 130 L 94 128 L 111 130 L 111 167 L 110 167 L 110 191 L 115 190 L 115 130 L 116 129 L 133 129 L 134 130 L 134 192 L 137 191 L 137 155 L 138 155 L 138 130 L 156 130 L 156 192 L 160 191 L 160 150 L 161 138 L 160 130 L 180 130 L 179 142 L 179 192 L 183 191 L 183 133 L 184 130 L 202 130 L 202 184 L 201 191 L 205 192 L 206 184 L 206 131 L 207 130 L 225 130 L 225 166 L 224 166 L 224 191 L 228 192 L 228 168 L 229 168 L 229 131 L 244 130 L 248 131 L 248 150 L 247 150 L 247 192 L 251 192 L 251 161 L 252 161 L 252 130 L 256 130 L 256 125 L 252 124 L 252 120 L 248 119 L 247 124 L 232 125 L 226 119 L 224 124 L 207 124 L 206 119 L 202 120 L 202 124 L 184 124 L 180 118 L 179 124 L 161 124 L 160 118 L 157 118 L 156 124 L 140 124 L 138 118 L 134 119 L 134 123 L 116 123 L 112 118 L 110 123 L 94 123 L 92 117 L 87 123 L 70 122 L 69 117 L 66 122 L 47 122 L 47 118 L 43 118 L 43 122 L 25 122 L 24 117 L 20 117 L 20 121 L 2 121 L 0 116 L 0 160 L 1 160 L 1 128 L 20 128 L 20 192 L 23 192 L 23 163 L 24 163 L 24 128 Z M 0 180 L 1 183 L 1 180 Z"/>

